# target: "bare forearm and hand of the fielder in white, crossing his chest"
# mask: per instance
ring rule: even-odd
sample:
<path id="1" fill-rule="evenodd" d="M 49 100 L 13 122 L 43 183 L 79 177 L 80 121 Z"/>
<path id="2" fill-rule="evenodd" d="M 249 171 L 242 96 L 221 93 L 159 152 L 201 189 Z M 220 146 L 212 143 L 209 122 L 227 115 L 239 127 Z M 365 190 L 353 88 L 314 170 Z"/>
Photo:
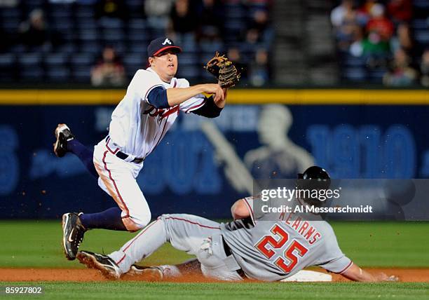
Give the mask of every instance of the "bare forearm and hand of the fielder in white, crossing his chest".
<path id="1" fill-rule="evenodd" d="M 214 103 L 224 101 L 224 91 L 215 83 L 198 84 L 189 88 L 168 88 L 167 100 L 170 107 L 174 107 L 201 93 L 213 94 Z"/>

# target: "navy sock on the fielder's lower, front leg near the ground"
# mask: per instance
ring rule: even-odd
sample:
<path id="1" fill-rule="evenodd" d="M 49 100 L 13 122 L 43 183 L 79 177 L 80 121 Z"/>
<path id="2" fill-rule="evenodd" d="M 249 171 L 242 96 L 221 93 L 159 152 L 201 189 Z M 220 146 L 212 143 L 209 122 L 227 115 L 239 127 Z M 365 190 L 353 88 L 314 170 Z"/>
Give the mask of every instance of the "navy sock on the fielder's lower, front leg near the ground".
<path id="1" fill-rule="evenodd" d="M 111 207 L 95 214 L 81 214 L 80 219 L 86 229 L 128 231 L 123 224 L 119 207 Z"/>

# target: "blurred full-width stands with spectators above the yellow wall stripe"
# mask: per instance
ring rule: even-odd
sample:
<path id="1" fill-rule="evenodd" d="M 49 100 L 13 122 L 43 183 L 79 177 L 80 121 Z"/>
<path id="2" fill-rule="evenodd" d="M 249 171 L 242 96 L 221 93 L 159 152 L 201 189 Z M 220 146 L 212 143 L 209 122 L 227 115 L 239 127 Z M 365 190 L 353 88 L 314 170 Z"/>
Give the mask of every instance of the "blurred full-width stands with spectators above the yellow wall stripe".
<path id="1" fill-rule="evenodd" d="M 111 46 L 125 85 L 168 34 L 194 82 L 220 50 L 243 86 L 429 85 L 427 0 L 2 0 L 0 15 L 2 83 L 90 83 Z"/>

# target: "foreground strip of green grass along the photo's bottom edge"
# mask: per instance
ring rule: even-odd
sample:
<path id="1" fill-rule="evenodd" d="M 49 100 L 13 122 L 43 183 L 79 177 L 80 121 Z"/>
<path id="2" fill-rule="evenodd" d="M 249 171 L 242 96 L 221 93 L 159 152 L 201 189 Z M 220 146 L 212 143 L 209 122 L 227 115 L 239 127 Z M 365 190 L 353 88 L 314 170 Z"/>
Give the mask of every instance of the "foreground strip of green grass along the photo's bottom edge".
<path id="1" fill-rule="evenodd" d="M 428 299 L 428 283 L 0 282 L 41 285 L 39 299 Z M 1 296 L 1 294 L 0 294 Z M 11 296 L 27 299 L 29 296 Z M 31 297 L 37 299 L 37 297 Z"/>

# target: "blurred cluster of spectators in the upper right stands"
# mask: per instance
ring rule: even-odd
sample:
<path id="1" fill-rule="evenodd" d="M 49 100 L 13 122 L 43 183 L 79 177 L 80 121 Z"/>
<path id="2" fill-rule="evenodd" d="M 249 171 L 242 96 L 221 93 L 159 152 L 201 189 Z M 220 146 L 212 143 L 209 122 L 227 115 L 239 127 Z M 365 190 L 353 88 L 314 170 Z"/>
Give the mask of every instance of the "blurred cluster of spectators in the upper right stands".
<path id="1" fill-rule="evenodd" d="M 413 1 L 343 0 L 331 22 L 348 79 L 365 81 L 374 74 L 370 79 L 386 86 L 429 87 L 429 17 L 414 11 Z"/>

